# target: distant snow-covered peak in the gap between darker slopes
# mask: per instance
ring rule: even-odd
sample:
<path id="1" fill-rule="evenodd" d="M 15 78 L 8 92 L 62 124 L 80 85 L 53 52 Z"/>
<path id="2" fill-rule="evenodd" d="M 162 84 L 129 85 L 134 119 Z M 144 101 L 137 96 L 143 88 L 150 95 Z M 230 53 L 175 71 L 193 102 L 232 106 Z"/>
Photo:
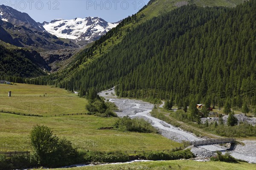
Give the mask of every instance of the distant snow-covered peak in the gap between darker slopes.
<path id="1" fill-rule="evenodd" d="M 75 18 L 73 20 L 52 20 L 50 23 L 44 22 L 42 25 L 49 33 L 71 40 L 94 41 L 99 39 L 118 23 L 108 23 L 99 17 Z"/>

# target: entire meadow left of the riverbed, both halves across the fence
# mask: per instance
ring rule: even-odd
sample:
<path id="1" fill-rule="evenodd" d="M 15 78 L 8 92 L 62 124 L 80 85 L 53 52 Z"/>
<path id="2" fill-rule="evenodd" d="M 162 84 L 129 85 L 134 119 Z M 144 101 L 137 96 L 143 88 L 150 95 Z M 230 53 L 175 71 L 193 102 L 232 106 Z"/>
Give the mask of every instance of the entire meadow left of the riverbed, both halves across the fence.
<path id="1" fill-rule="evenodd" d="M 7 97 L 8 91 L 12 97 Z M 47 93 L 47 95 L 44 94 Z M 41 95 L 41 96 L 40 96 Z M 0 151 L 32 150 L 29 133 L 35 125 L 46 125 L 60 138 L 66 138 L 74 147 L 81 150 L 166 150 L 179 147 L 157 133 L 122 132 L 115 129 L 99 130 L 100 127 L 113 127 L 118 118 L 101 118 L 92 115 L 54 116 L 59 113 L 85 113 L 87 100 L 79 98 L 64 89 L 41 85 L 0 85 L 0 105 L 33 104 L 31 110 L 18 109 L 17 112 L 43 114 L 48 117 L 21 116 L 0 113 Z M 58 108 L 49 105 L 57 103 Z M 35 106 L 43 105 L 43 111 Z M 15 107 L 13 108 L 15 109 Z M 6 108 L 4 109 L 6 110 Z"/>

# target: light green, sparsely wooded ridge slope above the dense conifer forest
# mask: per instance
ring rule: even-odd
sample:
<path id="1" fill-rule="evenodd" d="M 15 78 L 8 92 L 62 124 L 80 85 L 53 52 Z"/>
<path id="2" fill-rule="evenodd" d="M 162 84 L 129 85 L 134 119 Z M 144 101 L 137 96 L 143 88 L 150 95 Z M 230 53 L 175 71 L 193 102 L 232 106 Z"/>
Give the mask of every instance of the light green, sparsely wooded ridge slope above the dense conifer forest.
<path id="1" fill-rule="evenodd" d="M 86 67 L 88 62 L 93 62 L 94 59 L 102 57 L 102 54 L 106 54 L 115 48 L 120 42 L 122 42 L 125 35 L 130 34 L 131 30 L 144 22 L 151 20 L 153 17 L 157 17 L 161 14 L 165 14 L 172 11 L 175 8 L 185 5 L 196 4 L 197 6 L 227 6 L 234 7 L 244 0 L 150 0 L 146 6 L 144 6 L 137 14 L 129 16 L 122 20 L 118 26 L 108 31 L 107 34 L 103 35 L 97 40 L 90 48 L 85 48 L 73 57 L 73 62 L 70 63 L 70 68 L 57 76 L 59 80 L 70 79 L 71 75 L 81 68 Z M 90 59 L 88 59 L 90 58 Z"/>

